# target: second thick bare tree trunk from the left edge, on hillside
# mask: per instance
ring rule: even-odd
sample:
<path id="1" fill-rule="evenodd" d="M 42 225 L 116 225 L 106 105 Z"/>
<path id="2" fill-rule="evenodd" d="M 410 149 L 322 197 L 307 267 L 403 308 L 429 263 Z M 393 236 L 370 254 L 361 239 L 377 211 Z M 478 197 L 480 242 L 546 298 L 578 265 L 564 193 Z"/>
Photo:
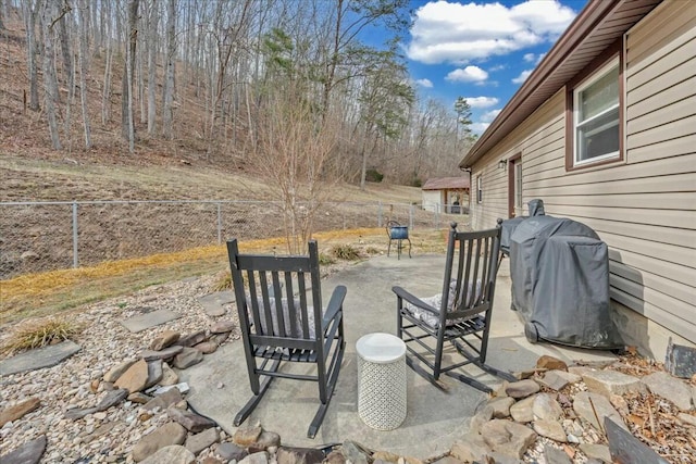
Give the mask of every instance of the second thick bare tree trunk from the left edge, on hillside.
<path id="1" fill-rule="evenodd" d="M 53 0 L 46 0 L 41 14 L 41 27 L 44 29 L 44 91 L 46 93 L 46 116 L 51 134 L 51 143 L 54 150 L 61 150 L 61 139 L 58 131 L 57 105 L 58 105 L 58 80 L 55 78 L 55 59 L 53 49 L 53 20 L 55 9 Z"/>

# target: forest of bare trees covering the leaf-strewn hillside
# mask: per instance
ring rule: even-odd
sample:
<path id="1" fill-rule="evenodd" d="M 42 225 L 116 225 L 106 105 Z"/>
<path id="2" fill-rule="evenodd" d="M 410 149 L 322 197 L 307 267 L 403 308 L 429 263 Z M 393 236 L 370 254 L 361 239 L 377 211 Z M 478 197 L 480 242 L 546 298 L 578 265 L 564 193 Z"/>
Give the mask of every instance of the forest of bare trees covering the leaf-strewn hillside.
<path id="1" fill-rule="evenodd" d="M 87 152 L 94 130 L 119 130 L 134 155 L 144 138 L 187 136 L 209 160 L 263 167 L 269 140 L 279 143 L 266 133 L 283 131 L 270 113 L 281 105 L 297 112 L 284 117 L 310 117 L 302 127 L 331 138 L 322 175 L 418 186 L 451 175 L 473 137 L 465 101 L 419 99 L 400 55 L 407 7 L 0 0 L 0 28 L 14 21 L 23 29 L 25 109 L 40 114 L 53 150 Z M 375 30 L 383 43 L 364 39 Z"/>

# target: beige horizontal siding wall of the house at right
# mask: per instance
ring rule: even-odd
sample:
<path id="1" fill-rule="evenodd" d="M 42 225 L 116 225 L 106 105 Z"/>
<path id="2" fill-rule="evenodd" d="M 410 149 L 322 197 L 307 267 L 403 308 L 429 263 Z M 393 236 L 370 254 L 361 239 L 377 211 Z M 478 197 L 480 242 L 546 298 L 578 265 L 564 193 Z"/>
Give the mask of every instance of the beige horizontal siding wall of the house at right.
<path id="1" fill-rule="evenodd" d="M 658 324 L 696 343 L 694 50 L 696 2 L 663 2 L 625 35 L 623 162 L 566 170 L 561 89 L 472 168 L 472 191 L 477 176 L 484 186 L 483 203 L 472 193 L 474 228 L 507 217 L 498 161 L 521 153 L 523 202 L 542 198 L 547 214 L 599 234 L 609 246 L 611 297 L 635 338 L 649 339 L 643 326 Z"/>

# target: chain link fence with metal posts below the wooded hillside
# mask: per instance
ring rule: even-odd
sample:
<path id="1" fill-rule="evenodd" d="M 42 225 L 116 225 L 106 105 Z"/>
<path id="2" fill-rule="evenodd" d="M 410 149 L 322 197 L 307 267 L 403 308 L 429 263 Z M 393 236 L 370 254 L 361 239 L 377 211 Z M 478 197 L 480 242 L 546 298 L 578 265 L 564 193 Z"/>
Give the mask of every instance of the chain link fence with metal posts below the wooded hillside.
<path id="1" fill-rule="evenodd" d="M 23 274 L 221 244 L 231 237 L 283 237 L 281 202 L 76 201 L 0 202 L 0 280 Z M 314 231 L 446 227 L 439 213 L 414 204 L 324 203 Z"/>

